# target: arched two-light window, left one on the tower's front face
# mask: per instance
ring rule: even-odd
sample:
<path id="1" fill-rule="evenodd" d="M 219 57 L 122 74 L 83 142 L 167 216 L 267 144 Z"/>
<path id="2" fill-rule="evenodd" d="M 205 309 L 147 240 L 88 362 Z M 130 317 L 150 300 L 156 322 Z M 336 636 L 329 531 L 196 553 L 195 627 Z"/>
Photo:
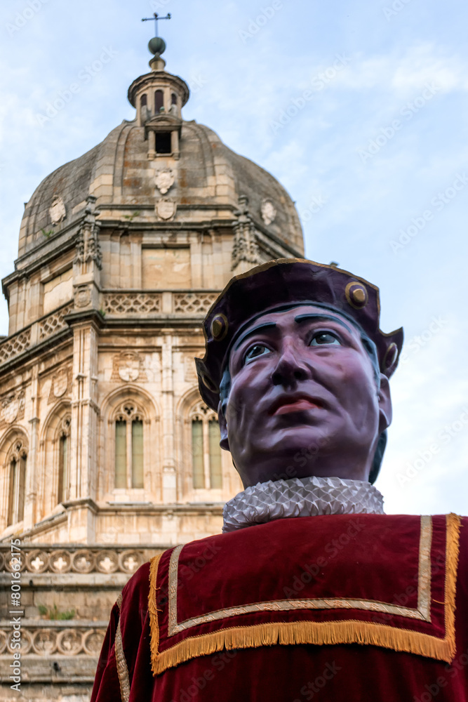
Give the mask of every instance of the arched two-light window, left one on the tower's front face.
<path id="1" fill-rule="evenodd" d="M 143 414 L 125 402 L 115 416 L 115 486 L 144 487 Z"/>

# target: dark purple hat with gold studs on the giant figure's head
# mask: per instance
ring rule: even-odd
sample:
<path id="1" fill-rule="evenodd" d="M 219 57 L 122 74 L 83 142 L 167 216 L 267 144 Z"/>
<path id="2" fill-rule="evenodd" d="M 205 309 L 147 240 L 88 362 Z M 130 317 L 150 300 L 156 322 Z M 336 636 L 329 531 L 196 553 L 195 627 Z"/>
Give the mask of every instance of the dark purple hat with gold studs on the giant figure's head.
<path id="1" fill-rule="evenodd" d="M 232 278 L 203 322 L 206 353 L 196 358 L 201 397 L 218 410 L 220 382 L 232 343 L 250 322 L 278 307 L 318 305 L 358 324 L 377 347 L 380 370 L 389 378 L 398 364 L 403 329 L 380 331 L 379 289 L 332 265 L 278 258 Z"/>

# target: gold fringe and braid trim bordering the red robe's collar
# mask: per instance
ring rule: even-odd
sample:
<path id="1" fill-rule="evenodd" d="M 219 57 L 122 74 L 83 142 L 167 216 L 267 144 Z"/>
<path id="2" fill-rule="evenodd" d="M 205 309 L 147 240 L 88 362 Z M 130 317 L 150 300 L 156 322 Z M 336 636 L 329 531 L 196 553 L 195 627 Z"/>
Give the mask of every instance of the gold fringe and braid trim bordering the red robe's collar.
<path id="1" fill-rule="evenodd" d="M 372 644 L 436 658 L 450 663 L 455 656 L 455 595 L 459 555 L 460 517 L 446 515 L 446 574 L 443 638 L 392 625 L 347 619 L 344 621 L 267 622 L 222 628 L 218 631 L 187 637 L 165 651 L 159 651 L 159 623 L 156 609 L 157 566 L 161 555 L 152 560 L 150 572 L 149 612 L 152 633 L 152 672 L 154 675 L 196 656 L 222 649 L 252 648 L 274 644 Z M 186 621 L 178 621 L 178 566 L 183 544 L 173 549 L 168 573 L 168 637 L 196 625 L 261 611 L 307 609 L 354 609 L 383 612 L 412 620 L 431 622 L 431 550 L 432 517 L 420 518 L 420 542 L 417 571 L 417 608 L 401 607 L 376 600 L 305 599 L 257 602 L 207 612 Z M 156 562 L 157 558 L 157 562 Z"/>

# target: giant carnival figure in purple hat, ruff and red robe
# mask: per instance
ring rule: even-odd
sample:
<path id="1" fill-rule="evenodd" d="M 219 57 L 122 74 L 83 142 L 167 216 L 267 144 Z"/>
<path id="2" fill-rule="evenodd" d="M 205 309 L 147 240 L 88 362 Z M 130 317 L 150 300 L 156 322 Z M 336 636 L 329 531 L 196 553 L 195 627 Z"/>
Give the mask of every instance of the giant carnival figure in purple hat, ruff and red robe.
<path id="1" fill-rule="evenodd" d="M 197 371 L 245 489 L 123 588 L 93 702 L 468 701 L 468 520 L 385 515 L 373 486 L 403 341 L 379 314 L 307 260 L 221 293 Z"/>

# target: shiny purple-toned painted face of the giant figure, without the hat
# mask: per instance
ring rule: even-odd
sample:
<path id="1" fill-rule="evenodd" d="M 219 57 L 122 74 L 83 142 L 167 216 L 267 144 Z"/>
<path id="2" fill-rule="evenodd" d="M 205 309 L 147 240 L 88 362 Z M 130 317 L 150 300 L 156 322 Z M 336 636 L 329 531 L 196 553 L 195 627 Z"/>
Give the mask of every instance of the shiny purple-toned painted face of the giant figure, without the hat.
<path id="1" fill-rule="evenodd" d="M 234 343 L 229 371 L 221 445 L 244 487 L 308 475 L 368 479 L 392 406 L 387 378 L 378 388 L 348 319 L 313 305 L 264 314 Z"/>

